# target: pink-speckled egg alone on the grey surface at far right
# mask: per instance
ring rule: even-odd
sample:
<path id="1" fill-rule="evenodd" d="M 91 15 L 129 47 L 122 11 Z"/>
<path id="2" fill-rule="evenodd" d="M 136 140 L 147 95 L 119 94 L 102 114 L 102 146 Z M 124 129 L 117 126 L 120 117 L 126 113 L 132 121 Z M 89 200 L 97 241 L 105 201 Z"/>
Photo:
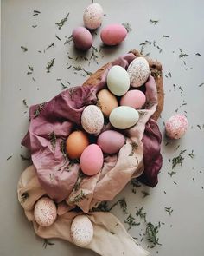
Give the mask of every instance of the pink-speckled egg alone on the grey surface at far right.
<path id="1" fill-rule="evenodd" d="M 180 139 L 188 128 L 188 120 L 185 115 L 176 114 L 169 118 L 165 124 L 166 135 L 170 139 Z"/>

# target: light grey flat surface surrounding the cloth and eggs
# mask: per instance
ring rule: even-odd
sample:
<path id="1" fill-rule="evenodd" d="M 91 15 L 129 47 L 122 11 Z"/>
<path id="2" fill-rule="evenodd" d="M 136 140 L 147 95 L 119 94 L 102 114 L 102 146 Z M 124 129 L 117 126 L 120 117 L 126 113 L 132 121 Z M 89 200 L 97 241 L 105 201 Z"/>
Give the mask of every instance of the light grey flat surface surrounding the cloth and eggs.
<path id="1" fill-rule="evenodd" d="M 20 154 L 25 153 L 20 142 L 25 135 L 29 114 L 28 108 L 22 104 L 26 99 L 28 105 L 48 101 L 61 92 L 62 82 L 71 82 L 72 86 L 85 81 L 85 77 L 73 74 L 73 69 L 67 69 L 66 63 L 73 64 L 67 58 L 67 51 L 74 56 L 72 44 L 64 45 L 65 36 L 70 36 L 74 27 L 82 25 L 82 13 L 91 1 L 68 0 L 4 0 L 2 1 L 2 91 L 0 106 L 0 135 L 1 135 L 1 256 L 32 256 L 32 255 L 95 255 L 86 250 L 78 249 L 71 244 L 53 240 L 55 245 L 42 247 L 43 241 L 35 236 L 32 226 L 22 213 L 22 208 L 16 200 L 16 184 L 22 170 L 29 162 L 22 161 Z M 159 220 L 164 222 L 159 231 L 159 241 L 162 246 L 150 249 L 152 255 L 203 255 L 204 254 L 204 169 L 203 169 L 203 143 L 204 143 L 204 117 L 203 117 L 203 24 L 204 2 L 201 1 L 99 1 L 106 16 L 104 23 L 131 23 L 132 31 L 120 46 L 103 49 L 104 57 L 99 58 L 99 65 L 92 62 L 75 62 L 87 70 L 95 71 L 105 62 L 126 53 L 130 49 L 140 49 L 139 43 L 145 40 L 154 41 L 163 51 L 159 53 L 153 45 L 145 49 L 151 52 L 151 57 L 163 63 L 165 107 L 159 125 L 163 131 L 163 121 L 170 115 L 187 111 L 189 129 L 187 135 L 180 141 L 170 141 L 165 146 L 163 138 L 163 168 L 159 175 L 159 183 L 154 188 L 140 187 L 137 194 L 131 193 L 131 184 L 125 187 L 118 195 L 118 199 L 125 196 L 128 203 L 128 212 L 135 216 L 135 207 L 144 207 L 147 219 L 153 223 Z M 40 10 L 39 16 L 32 16 L 33 10 Z M 67 12 L 70 12 L 68 21 L 61 30 L 55 23 L 59 22 Z M 158 19 L 159 23 L 151 24 L 150 18 Z M 32 25 L 37 24 L 36 28 Z M 99 32 L 98 32 L 99 34 Z M 55 38 L 61 37 L 61 42 Z M 170 38 L 164 38 L 168 35 Z M 50 43 L 54 48 L 43 53 Z M 93 45 L 99 48 L 99 35 L 94 36 Z M 21 46 L 28 48 L 22 52 Z M 185 58 L 187 66 L 179 58 L 179 48 L 189 56 Z M 38 53 L 41 50 L 42 53 Z M 199 52 L 201 56 L 195 56 Z M 90 53 L 89 53 L 90 55 Z M 101 54 L 102 56 L 102 54 Z M 51 73 L 46 73 L 47 62 L 55 58 Z M 28 64 L 34 67 L 33 75 L 27 75 Z M 190 69 L 190 68 L 193 69 Z M 187 70 L 186 70 L 187 69 Z M 165 75 L 171 72 L 172 77 Z M 35 77 L 35 82 L 32 81 Z M 176 89 L 173 89 L 173 84 Z M 181 97 L 182 86 L 183 95 Z M 39 89 L 38 89 L 39 88 Z M 24 114 L 24 111 L 27 113 Z M 197 125 L 201 126 L 200 130 Z M 180 148 L 175 151 L 177 145 Z M 176 174 L 171 178 L 171 163 L 168 161 L 178 155 L 180 149 L 187 149 L 183 167 L 176 167 Z M 194 159 L 188 156 L 194 150 Z M 6 159 L 12 155 L 9 161 Z M 177 183 L 175 185 L 174 181 Z M 203 186 L 203 187 L 202 187 Z M 148 191 L 149 196 L 143 198 L 141 191 Z M 166 192 L 166 194 L 164 193 Z M 164 207 L 174 209 L 171 216 L 165 212 Z M 119 207 L 112 211 L 121 221 L 127 217 Z M 141 221 L 143 222 L 143 221 Z M 127 227 L 127 226 L 126 226 Z M 133 227 L 130 233 L 139 238 L 145 227 Z M 145 237 L 142 245 L 148 246 Z"/>

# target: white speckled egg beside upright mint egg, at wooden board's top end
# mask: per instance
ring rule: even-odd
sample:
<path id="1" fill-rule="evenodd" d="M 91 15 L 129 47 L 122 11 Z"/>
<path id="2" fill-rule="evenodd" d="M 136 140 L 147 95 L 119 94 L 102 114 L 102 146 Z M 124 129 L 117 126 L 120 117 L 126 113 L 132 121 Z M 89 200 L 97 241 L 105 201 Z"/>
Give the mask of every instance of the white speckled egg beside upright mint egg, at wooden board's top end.
<path id="1" fill-rule="evenodd" d="M 131 86 L 139 87 L 147 81 L 150 75 L 149 63 L 145 58 L 137 57 L 131 62 L 127 72 L 130 75 Z"/>

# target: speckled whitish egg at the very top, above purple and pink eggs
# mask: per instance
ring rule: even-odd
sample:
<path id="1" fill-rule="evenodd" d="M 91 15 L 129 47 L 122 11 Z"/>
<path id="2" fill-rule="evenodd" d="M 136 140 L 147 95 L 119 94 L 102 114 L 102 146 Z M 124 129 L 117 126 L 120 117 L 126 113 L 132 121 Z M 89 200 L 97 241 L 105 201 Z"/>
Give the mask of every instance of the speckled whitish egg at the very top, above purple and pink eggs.
<path id="1" fill-rule="evenodd" d="M 104 16 L 104 10 L 99 3 L 90 4 L 84 11 L 84 24 L 86 28 L 95 30 L 99 28 Z"/>

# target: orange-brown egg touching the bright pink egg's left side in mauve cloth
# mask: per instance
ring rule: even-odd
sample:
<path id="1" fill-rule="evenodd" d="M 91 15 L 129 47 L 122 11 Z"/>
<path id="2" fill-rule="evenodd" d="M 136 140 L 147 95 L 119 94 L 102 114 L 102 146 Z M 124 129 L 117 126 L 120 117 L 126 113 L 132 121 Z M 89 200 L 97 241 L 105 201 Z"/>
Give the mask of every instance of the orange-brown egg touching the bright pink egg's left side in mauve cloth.
<path id="1" fill-rule="evenodd" d="M 84 149 L 89 145 L 88 136 L 82 131 L 74 131 L 66 141 L 67 154 L 70 159 L 79 159 Z"/>

